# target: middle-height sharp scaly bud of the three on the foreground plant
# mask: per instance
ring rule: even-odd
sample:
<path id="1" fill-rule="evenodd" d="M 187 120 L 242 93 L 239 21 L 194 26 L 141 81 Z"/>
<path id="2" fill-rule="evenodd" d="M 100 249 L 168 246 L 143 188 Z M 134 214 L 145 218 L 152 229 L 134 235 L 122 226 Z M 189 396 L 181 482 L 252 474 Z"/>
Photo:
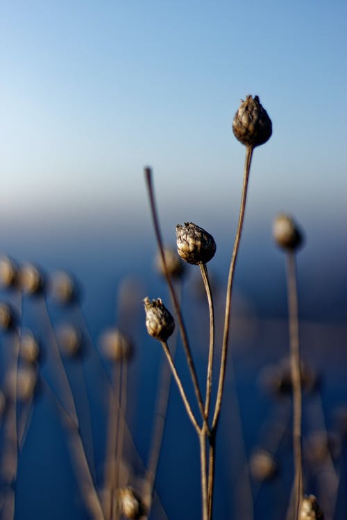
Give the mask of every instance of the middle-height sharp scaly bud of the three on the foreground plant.
<path id="1" fill-rule="evenodd" d="M 176 226 L 176 239 L 180 257 L 196 266 L 210 261 L 216 252 L 213 236 L 192 222 Z"/>

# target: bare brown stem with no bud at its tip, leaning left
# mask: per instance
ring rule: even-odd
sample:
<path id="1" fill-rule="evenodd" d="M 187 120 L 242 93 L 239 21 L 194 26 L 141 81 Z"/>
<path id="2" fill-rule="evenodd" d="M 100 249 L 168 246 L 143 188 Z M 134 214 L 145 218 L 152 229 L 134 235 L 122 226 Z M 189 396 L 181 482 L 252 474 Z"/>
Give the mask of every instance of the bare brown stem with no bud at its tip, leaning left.
<path id="1" fill-rule="evenodd" d="M 152 183 L 152 171 L 151 171 L 151 168 L 144 168 L 144 173 L 145 173 L 145 177 L 146 177 L 147 188 L 148 188 L 148 191 L 149 191 L 149 201 L 150 201 L 150 205 L 151 205 L 151 214 L 152 214 L 153 225 L 154 225 L 154 229 L 155 229 L 155 236 L 156 236 L 157 243 L 158 243 L 158 248 L 159 248 L 159 252 L 160 252 L 160 258 L 161 258 L 161 261 L 162 261 L 162 266 L 164 267 L 164 275 L 165 275 L 165 278 L 167 280 L 167 285 L 169 287 L 171 300 L 172 300 L 172 302 L 174 304 L 174 309 L 175 309 L 176 316 L 177 316 L 177 319 L 178 319 L 178 326 L 180 327 L 180 335 L 182 337 L 183 348 L 185 349 L 185 356 L 187 358 L 189 371 L 190 371 L 190 374 L 192 376 L 192 381 L 193 381 L 193 385 L 194 385 L 194 391 L 195 391 L 195 395 L 196 395 L 196 400 L 198 401 L 198 407 L 199 407 L 200 412 L 201 412 L 201 417 L 205 421 L 206 418 L 205 418 L 205 410 L 204 410 L 204 406 L 203 406 L 203 399 L 201 397 L 201 391 L 200 391 L 200 388 L 199 388 L 199 385 L 198 385 L 198 378 L 196 376 L 196 370 L 195 370 L 195 367 L 194 367 L 192 352 L 191 352 L 191 349 L 189 347 L 187 331 L 185 329 L 185 324 L 183 322 L 183 315 L 182 315 L 182 312 L 181 312 L 181 309 L 180 309 L 180 304 L 178 302 L 178 297 L 176 295 L 176 291 L 174 289 L 174 284 L 171 281 L 171 277 L 170 277 L 169 272 L 167 270 L 167 264 L 166 264 L 166 261 L 165 261 L 164 248 L 163 248 L 163 244 L 162 244 L 162 235 L 161 235 L 160 227 L 159 227 L 158 212 L 157 212 L 156 205 L 155 205 L 155 197 L 154 197 L 154 189 L 153 189 L 153 183 Z"/>

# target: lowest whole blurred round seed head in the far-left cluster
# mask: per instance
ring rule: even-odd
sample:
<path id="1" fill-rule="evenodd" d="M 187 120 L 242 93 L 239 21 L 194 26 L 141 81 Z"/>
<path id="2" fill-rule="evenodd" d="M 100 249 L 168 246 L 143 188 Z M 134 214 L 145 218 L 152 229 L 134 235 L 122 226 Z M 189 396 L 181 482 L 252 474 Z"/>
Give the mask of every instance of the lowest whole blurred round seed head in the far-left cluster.
<path id="1" fill-rule="evenodd" d="M 37 384 L 37 374 L 31 367 L 20 367 L 9 370 L 5 378 L 6 394 L 10 399 L 28 401 L 34 395 Z"/>

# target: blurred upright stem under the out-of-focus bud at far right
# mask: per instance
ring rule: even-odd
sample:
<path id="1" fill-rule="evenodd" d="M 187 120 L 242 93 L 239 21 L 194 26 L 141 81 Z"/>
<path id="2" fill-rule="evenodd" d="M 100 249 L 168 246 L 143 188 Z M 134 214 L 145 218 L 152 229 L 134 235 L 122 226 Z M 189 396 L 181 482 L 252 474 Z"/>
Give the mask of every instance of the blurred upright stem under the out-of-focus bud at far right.
<path id="1" fill-rule="evenodd" d="M 287 253 L 287 290 L 289 311 L 289 343 L 291 381 L 293 384 L 293 446 L 294 446 L 294 496 L 298 519 L 303 498 L 303 456 L 301 447 L 302 392 L 301 363 L 298 327 L 298 290 L 296 284 L 296 262 L 294 252 Z"/>

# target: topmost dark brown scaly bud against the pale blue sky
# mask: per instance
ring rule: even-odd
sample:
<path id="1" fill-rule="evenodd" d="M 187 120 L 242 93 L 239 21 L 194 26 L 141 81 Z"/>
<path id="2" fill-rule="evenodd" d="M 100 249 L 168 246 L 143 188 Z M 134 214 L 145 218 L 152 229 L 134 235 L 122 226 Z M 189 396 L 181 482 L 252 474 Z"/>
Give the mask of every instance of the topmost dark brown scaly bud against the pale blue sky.
<path id="1" fill-rule="evenodd" d="M 258 96 L 246 96 L 246 101 L 241 100 L 239 110 L 232 121 L 232 131 L 238 141 L 253 148 L 270 139 L 271 119 L 260 104 Z"/>

